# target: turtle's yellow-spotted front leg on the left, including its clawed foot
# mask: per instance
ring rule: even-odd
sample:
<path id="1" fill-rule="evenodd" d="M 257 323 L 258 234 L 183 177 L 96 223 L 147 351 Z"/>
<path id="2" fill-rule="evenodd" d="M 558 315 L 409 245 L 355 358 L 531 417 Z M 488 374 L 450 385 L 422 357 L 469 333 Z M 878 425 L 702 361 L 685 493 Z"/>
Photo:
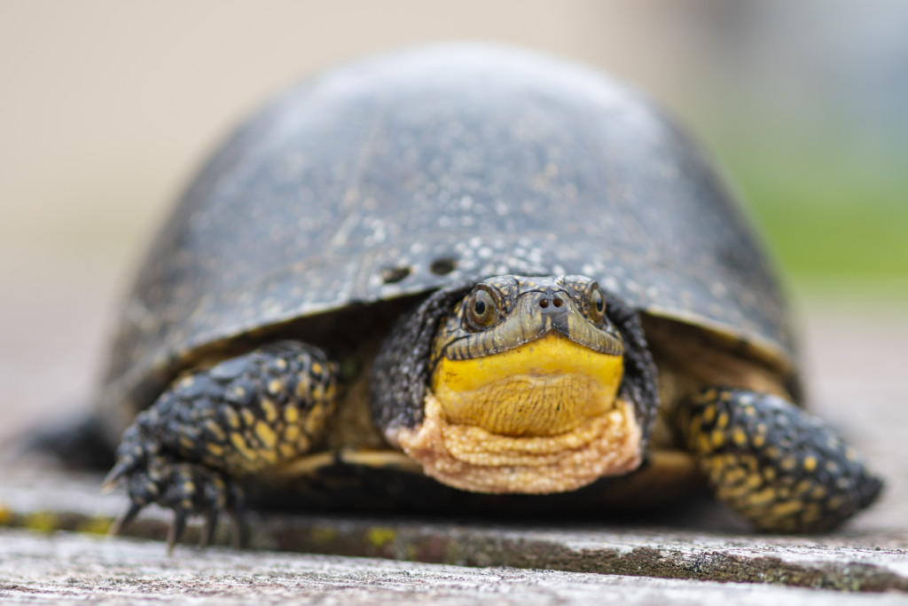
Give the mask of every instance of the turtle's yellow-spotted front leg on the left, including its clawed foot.
<path id="1" fill-rule="evenodd" d="M 116 533 L 150 503 L 172 509 L 173 549 L 186 516 L 206 516 L 202 545 L 219 512 L 242 543 L 240 478 L 307 452 L 331 415 L 338 365 L 305 343 L 272 343 L 184 375 L 123 433 L 105 487 L 126 484 L 131 505 Z"/>

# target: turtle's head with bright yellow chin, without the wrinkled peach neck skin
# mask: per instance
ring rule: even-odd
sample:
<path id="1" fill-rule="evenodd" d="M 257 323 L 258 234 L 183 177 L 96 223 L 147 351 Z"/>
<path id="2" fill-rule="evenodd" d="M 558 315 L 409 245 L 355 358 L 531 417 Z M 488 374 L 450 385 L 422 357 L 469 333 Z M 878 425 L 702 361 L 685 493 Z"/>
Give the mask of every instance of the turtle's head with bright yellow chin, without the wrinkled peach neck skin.
<path id="1" fill-rule="evenodd" d="M 596 282 L 503 276 L 457 304 L 432 357 L 430 390 L 449 422 L 557 436 L 614 408 L 624 340 Z"/>

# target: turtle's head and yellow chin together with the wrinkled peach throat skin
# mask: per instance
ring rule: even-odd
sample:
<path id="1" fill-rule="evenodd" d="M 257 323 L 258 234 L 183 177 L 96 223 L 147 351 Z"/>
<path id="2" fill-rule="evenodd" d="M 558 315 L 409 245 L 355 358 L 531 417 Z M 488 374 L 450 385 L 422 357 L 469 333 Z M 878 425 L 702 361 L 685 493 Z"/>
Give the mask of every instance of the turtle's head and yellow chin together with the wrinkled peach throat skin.
<path id="1" fill-rule="evenodd" d="M 405 452 L 477 492 L 561 492 L 639 465 L 625 343 L 583 276 L 478 283 L 435 335 L 423 421 Z"/>

